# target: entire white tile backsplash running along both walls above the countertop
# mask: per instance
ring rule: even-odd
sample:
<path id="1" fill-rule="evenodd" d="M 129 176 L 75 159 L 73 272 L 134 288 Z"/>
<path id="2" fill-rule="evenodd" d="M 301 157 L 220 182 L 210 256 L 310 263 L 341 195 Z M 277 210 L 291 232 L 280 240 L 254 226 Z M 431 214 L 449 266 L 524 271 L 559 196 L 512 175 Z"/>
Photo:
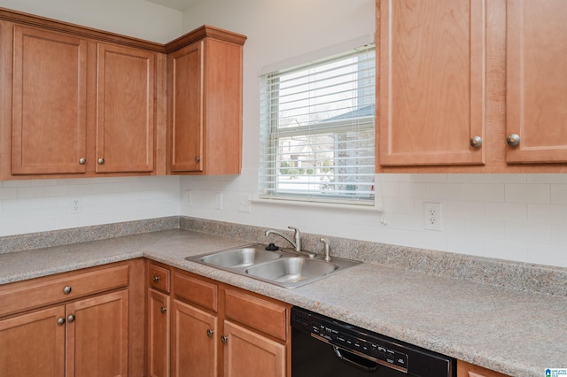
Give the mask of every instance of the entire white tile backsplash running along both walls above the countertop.
<path id="1" fill-rule="evenodd" d="M 565 175 L 378 174 L 384 212 L 257 202 L 250 212 L 238 212 L 239 195 L 257 197 L 255 169 L 222 177 L 0 181 L 0 235 L 181 214 L 567 266 Z M 185 190 L 191 191 L 191 204 L 184 201 Z M 215 192 L 223 196 L 221 211 L 214 209 Z M 70 213 L 74 196 L 82 198 L 81 213 Z M 441 231 L 423 229 L 428 201 L 442 204 Z"/>

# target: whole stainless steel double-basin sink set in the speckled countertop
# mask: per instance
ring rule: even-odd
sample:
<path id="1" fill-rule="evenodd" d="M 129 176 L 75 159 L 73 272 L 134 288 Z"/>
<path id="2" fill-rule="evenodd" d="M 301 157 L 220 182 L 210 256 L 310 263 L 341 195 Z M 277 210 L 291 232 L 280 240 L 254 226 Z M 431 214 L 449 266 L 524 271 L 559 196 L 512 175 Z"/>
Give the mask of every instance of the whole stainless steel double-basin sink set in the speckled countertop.
<path id="1" fill-rule="evenodd" d="M 329 262 L 321 256 L 308 258 L 304 253 L 292 249 L 266 250 L 266 245 L 260 243 L 185 259 L 289 289 L 361 263 L 336 257 Z"/>

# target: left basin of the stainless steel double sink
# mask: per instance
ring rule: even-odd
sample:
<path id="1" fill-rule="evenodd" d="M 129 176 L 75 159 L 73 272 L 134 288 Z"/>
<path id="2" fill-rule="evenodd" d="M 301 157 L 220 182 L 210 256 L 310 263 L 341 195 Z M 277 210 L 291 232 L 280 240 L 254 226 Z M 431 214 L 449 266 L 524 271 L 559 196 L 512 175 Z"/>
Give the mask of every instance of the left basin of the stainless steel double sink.
<path id="1" fill-rule="evenodd" d="M 258 265 L 277 258 L 282 258 L 282 254 L 275 251 L 268 251 L 258 246 L 251 246 L 209 254 L 200 257 L 200 261 L 207 265 L 240 268 Z"/>

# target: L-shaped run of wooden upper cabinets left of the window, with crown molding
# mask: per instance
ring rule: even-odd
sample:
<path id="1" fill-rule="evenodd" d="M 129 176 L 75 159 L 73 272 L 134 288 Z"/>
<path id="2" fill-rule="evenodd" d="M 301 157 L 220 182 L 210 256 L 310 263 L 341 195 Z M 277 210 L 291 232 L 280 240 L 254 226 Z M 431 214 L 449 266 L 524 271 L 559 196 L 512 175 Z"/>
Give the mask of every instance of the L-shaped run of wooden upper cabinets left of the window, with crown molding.
<path id="1" fill-rule="evenodd" d="M 0 8 L 0 179 L 237 174 L 245 35 L 159 44 Z"/>

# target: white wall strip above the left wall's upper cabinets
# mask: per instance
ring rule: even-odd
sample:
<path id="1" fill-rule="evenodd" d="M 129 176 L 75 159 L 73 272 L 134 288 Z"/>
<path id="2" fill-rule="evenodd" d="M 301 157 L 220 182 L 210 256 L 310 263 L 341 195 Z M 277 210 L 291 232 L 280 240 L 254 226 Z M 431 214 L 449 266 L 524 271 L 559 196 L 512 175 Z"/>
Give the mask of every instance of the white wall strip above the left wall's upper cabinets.
<path id="1" fill-rule="evenodd" d="M 143 0 L 0 0 L 0 7 L 151 42 L 181 35 L 182 12 Z"/>

